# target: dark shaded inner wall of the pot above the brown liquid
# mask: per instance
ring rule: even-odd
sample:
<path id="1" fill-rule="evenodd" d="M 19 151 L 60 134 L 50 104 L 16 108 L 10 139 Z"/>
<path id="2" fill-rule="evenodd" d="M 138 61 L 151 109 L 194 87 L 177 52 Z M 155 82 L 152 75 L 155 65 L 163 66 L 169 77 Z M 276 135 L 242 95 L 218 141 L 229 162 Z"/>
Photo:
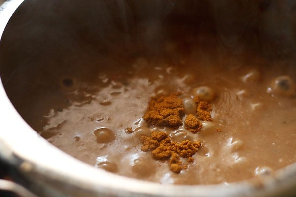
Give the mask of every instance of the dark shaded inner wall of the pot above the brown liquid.
<path id="1" fill-rule="evenodd" d="M 18 112 L 40 131 L 50 104 L 65 94 L 61 80 L 91 83 L 101 71 L 124 70 L 129 58 L 165 56 L 171 40 L 180 40 L 180 53 L 190 53 L 194 40 L 204 59 L 218 53 L 235 59 L 248 51 L 293 64 L 295 6 L 268 0 L 26 0 L 1 38 L 1 80 Z"/>

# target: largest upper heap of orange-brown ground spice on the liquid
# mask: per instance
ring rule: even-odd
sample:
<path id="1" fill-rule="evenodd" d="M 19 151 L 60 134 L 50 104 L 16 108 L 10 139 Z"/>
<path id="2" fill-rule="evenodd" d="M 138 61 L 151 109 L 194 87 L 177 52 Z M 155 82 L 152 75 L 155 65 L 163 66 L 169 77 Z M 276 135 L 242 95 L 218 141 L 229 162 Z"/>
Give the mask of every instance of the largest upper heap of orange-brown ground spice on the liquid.
<path id="1" fill-rule="evenodd" d="M 143 119 L 150 125 L 178 127 L 182 125 L 184 108 L 178 93 L 152 97 Z"/>

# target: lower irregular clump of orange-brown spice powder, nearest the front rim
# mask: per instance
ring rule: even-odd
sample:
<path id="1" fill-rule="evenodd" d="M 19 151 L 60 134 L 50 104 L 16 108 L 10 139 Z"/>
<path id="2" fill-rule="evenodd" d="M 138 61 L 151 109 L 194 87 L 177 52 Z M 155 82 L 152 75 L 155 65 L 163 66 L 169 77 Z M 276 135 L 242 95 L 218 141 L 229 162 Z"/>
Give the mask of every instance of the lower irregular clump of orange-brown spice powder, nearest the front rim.
<path id="1" fill-rule="evenodd" d="M 156 160 L 168 160 L 171 171 L 180 173 L 182 169 L 188 168 L 188 163 L 192 163 L 192 157 L 201 147 L 199 141 L 184 140 L 182 142 L 172 142 L 166 132 L 152 131 L 150 136 L 141 136 L 141 150 L 152 151 L 152 157 Z M 187 158 L 187 163 L 182 164 L 182 158 Z"/>

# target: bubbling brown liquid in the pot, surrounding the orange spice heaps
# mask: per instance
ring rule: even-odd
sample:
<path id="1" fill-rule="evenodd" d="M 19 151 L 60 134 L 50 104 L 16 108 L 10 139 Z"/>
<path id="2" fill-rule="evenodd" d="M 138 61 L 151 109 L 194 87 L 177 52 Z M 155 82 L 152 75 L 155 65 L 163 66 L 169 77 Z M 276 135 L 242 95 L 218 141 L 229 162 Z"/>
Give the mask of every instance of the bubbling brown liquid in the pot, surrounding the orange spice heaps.
<path id="1" fill-rule="evenodd" d="M 90 165 L 163 184 L 228 183 L 271 175 L 294 163 L 296 99 L 277 92 L 274 81 L 279 76 L 294 80 L 295 66 L 263 59 L 243 65 L 227 56 L 201 60 L 201 55 L 183 55 L 177 63 L 138 57 L 123 71 L 104 69 L 90 81 L 60 79 L 67 101 L 51 106 L 39 133 Z M 287 80 L 282 83 L 285 89 Z M 213 121 L 204 122 L 202 131 L 155 127 L 143 120 L 151 96 L 181 92 L 190 97 L 201 86 L 216 95 Z M 64 102 L 67 107 L 61 107 Z M 126 132 L 127 127 L 134 132 Z M 151 131 L 165 131 L 176 141 L 198 140 L 204 147 L 188 169 L 174 173 L 141 151 L 140 136 Z"/>

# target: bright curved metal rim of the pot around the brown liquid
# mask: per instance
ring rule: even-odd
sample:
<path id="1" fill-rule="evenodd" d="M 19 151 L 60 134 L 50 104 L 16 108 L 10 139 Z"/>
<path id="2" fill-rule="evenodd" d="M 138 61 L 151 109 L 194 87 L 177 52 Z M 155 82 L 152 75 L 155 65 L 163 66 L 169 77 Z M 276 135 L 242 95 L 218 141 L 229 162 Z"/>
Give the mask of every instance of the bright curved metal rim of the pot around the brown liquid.
<path id="1" fill-rule="evenodd" d="M 23 1 L 6 1 L 0 7 L 0 37 L 10 17 Z M 115 175 L 73 158 L 38 135 L 15 110 L 2 83 L 0 109 L 0 157 L 25 176 L 35 174 L 38 179 L 35 181 L 56 190 L 59 190 L 56 185 L 65 184 L 82 192 L 91 191 L 94 196 L 260 197 L 292 191 L 296 186 L 296 163 L 259 182 L 217 185 L 161 185 Z M 67 193 L 67 190 L 62 193 Z"/>

